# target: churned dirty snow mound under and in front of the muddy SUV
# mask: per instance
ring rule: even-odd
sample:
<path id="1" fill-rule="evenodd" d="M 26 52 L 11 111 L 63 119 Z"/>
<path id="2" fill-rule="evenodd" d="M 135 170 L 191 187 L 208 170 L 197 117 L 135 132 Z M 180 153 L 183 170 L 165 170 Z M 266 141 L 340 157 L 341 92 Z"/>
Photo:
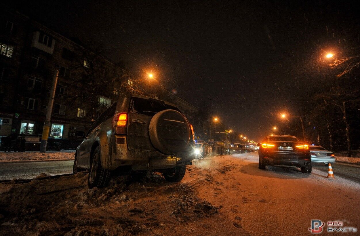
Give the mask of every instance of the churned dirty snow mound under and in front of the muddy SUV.
<path id="1" fill-rule="evenodd" d="M 171 230 L 181 235 L 181 222 L 201 221 L 220 209 L 191 185 L 168 183 L 159 173 L 115 177 L 105 188 L 89 189 L 86 182 L 87 173 L 81 172 L 13 184 L 0 194 L 0 234 L 165 235 Z"/>

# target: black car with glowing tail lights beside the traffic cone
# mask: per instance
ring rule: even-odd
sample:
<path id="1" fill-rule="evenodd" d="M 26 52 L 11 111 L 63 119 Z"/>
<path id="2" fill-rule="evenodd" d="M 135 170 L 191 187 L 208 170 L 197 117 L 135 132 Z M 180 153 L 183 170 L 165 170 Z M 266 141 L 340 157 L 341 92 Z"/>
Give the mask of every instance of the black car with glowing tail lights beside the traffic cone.
<path id="1" fill-rule="evenodd" d="M 266 136 L 259 148 L 259 169 L 266 165 L 300 167 L 302 173 L 311 173 L 309 146 L 290 135 Z"/>

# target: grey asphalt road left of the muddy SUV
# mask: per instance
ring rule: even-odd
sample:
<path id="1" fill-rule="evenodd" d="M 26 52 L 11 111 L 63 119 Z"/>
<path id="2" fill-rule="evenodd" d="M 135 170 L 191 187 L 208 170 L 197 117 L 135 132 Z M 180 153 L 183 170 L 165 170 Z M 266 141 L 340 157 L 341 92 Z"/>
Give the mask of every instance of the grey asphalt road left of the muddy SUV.
<path id="1" fill-rule="evenodd" d="M 31 179 L 41 173 L 69 174 L 72 173 L 73 163 L 73 160 L 0 163 L 0 180 Z"/>

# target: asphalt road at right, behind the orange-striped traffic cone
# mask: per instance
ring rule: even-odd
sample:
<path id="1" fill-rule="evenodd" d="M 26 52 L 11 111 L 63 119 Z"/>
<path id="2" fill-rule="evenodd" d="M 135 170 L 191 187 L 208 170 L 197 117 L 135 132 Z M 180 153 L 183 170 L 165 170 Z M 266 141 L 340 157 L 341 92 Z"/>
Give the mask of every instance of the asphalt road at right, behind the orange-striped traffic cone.
<path id="1" fill-rule="evenodd" d="M 360 165 L 335 162 L 331 166 L 333 168 L 335 178 L 339 176 L 344 179 L 348 179 L 356 183 L 360 183 Z M 321 164 L 312 163 L 312 168 L 323 170 L 325 172 L 328 171 L 328 166 L 325 166 L 325 164 L 323 163 Z"/>

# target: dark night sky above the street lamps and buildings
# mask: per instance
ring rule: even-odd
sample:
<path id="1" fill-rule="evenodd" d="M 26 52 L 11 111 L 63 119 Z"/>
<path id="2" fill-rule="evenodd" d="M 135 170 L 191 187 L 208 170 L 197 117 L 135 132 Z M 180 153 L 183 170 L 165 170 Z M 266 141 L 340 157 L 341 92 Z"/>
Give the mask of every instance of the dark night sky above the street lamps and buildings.
<path id="1" fill-rule="evenodd" d="M 208 101 L 226 127 L 254 140 L 280 124 L 280 112 L 299 111 L 306 74 L 341 50 L 360 10 L 343 1 L 16 2 L 55 31 L 104 43 L 136 75 L 152 68 L 157 83 L 195 106 Z"/>

